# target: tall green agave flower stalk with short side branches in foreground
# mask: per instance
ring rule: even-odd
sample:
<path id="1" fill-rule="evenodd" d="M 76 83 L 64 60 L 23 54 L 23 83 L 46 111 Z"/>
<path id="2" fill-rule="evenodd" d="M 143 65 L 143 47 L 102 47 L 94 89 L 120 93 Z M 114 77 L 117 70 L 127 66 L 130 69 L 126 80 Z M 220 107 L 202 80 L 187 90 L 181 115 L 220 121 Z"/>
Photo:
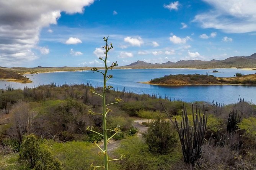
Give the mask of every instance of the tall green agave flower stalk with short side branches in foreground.
<path id="1" fill-rule="evenodd" d="M 122 157 L 124 156 L 121 156 L 119 159 L 108 159 L 108 141 L 111 140 L 111 138 L 113 138 L 117 133 L 120 133 L 121 130 L 120 128 L 114 128 L 113 129 L 107 129 L 107 124 L 106 124 L 106 116 L 109 112 L 111 112 L 111 110 L 108 108 L 109 105 L 111 104 L 116 104 L 116 103 L 119 103 L 122 101 L 122 99 L 116 99 L 116 101 L 114 103 L 109 103 L 109 104 L 106 104 L 106 91 L 113 88 L 112 86 L 107 86 L 106 85 L 106 82 L 113 78 L 113 75 L 108 75 L 108 70 L 109 69 L 113 69 L 113 67 L 117 66 L 117 62 L 114 62 L 111 64 L 111 66 L 107 66 L 107 58 L 108 58 L 108 52 L 109 50 L 111 50 L 113 48 L 112 46 L 112 43 L 110 43 L 110 47 L 108 45 L 108 37 L 104 37 L 104 42 L 106 43 L 106 45 L 103 47 L 105 52 L 105 58 L 102 58 L 100 57 L 99 59 L 102 60 L 104 62 L 104 66 L 105 66 L 105 70 L 104 71 L 99 71 L 98 68 L 96 67 L 93 67 L 91 69 L 91 71 L 93 72 L 99 72 L 103 75 L 103 91 L 101 94 L 98 94 L 95 92 L 95 89 L 92 88 L 90 91 L 91 93 L 95 94 L 95 95 L 98 95 L 102 98 L 102 113 L 95 113 L 93 112 L 92 110 L 89 110 L 88 113 L 89 114 L 92 114 L 92 115 L 101 115 L 102 116 L 102 120 L 103 120 L 103 134 L 99 133 L 99 132 L 95 132 L 93 130 L 93 127 L 87 127 L 86 130 L 90 130 L 91 132 L 94 132 L 94 133 L 97 133 L 98 135 L 101 135 L 103 137 L 103 143 L 104 143 L 104 147 L 103 149 L 95 142 L 96 146 L 98 146 L 98 148 L 100 149 L 100 153 L 104 155 L 104 165 L 99 165 L 99 166 L 94 166 L 93 164 L 91 165 L 91 167 L 93 167 L 94 169 L 98 168 L 98 167 L 103 167 L 105 170 L 108 170 L 108 163 L 110 161 L 113 161 L 113 160 L 120 160 L 122 159 Z M 108 138 L 107 136 L 107 131 L 109 132 L 115 132 L 114 135 L 112 135 L 111 137 Z"/>

